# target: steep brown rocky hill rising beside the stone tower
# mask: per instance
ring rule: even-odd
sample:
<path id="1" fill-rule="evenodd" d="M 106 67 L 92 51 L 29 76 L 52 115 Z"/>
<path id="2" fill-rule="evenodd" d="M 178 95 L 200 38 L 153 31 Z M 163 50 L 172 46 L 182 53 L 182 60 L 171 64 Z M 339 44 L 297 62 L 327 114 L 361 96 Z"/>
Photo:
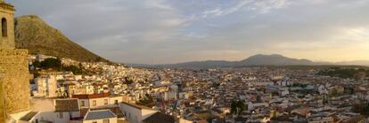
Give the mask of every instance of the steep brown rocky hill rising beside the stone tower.
<path id="1" fill-rule="evenodd" d="M 30 54 L 45 54 L 78 61 L 107 61 L 71 42 L 59 30 L 50 27 L 36 15 L 15 18 L 14 33 L 16 47 L 27 49 Z"/>

